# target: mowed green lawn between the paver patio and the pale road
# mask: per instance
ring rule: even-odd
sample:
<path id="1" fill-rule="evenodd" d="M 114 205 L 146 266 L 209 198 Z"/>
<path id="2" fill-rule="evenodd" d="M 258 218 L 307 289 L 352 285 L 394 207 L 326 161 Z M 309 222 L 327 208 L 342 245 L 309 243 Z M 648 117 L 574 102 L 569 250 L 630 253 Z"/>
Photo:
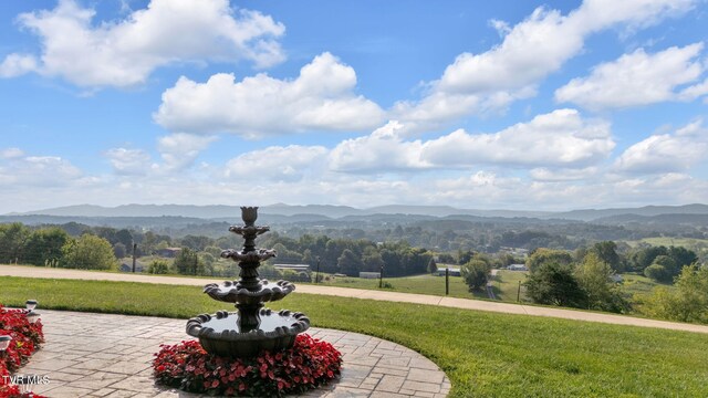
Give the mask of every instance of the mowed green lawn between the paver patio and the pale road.
<path id="1" fill-rule="evenodd" d="M 0 302 L 188 318 L 229 308 L 194 286 L 3 277 Z M 309 294 L 273 310 L 410 347 L 452 397 L 708 397 L 708 335 Z M 185 336 L 187 337 L 187 336 Z"/>

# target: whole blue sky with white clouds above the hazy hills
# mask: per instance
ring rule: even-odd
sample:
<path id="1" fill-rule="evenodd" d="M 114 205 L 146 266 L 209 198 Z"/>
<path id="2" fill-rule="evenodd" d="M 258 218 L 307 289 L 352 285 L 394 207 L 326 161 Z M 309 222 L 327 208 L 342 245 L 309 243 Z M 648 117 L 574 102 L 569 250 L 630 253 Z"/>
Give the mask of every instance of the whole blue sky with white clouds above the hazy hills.
<path id="1" fill-rule="evenodd" d="M 707 6 L 3 1 L 0 213 L 705 202 Z"/>

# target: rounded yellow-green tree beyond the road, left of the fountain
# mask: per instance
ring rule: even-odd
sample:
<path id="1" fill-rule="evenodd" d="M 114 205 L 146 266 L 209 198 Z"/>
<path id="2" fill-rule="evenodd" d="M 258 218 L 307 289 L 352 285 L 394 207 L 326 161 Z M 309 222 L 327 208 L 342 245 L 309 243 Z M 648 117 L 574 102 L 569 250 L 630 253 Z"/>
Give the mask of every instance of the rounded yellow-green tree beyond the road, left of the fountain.
<path id="1" fill-rule="evenodd" d="M 61 264 L 63 268 L 113 270 L 118 265 L 111 242 L 88 233 L 67 241 L 62 248 L 62 252 Z"/>

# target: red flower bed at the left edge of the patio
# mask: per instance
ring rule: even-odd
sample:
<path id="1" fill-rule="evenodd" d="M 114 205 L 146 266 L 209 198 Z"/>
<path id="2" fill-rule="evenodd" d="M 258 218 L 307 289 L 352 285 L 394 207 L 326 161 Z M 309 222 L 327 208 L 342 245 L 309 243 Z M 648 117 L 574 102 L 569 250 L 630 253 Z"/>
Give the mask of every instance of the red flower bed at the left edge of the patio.
<path id="1" fill-rule="evenodd" d="M 0 353 L 0 398 L 40 397 L 31 392 L 21 394 L 10 384 L 9 376 L 27 364 L 29 357 L 44 343 L 42 322 L 31 324 L 24 310 L 6 308 L 0 304 L 0 335 L 10 336 L 10 346 Z"/>

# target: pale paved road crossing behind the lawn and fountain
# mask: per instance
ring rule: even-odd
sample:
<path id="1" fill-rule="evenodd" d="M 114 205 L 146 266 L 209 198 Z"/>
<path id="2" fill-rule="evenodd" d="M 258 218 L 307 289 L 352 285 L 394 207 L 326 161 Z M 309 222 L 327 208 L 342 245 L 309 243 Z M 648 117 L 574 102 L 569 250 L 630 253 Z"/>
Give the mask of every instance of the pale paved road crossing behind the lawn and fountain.
<path id="1" fill-rule="evenodd" d="M 74 279 L 94 281 L 125 281 L 144 282 L 157 284 L 194 285 L 202 286 L 214 282 L 212 279 L 176 277 L 143 274 L 92 272 L 65 269 L 48 269 L 20 265 L 0 265 L 0 275 L 25 276 L 25 277 L 50 277 L 50 279 Z M 454 298 L 445 296 L 433 296 L 424 294 L 397 293 L 374 290 L 360 290 L 348 287 L 333 287 L 323 285 L 299 284 L 298 292 L 306 294 L 322 294 L 339 297 L 368 298 L 389 302 L 403 302 L 414 304 L 439 305 L 452 308 L 490 311 L 506 314 L 522 314 L 533 316 L 549 316 L 565 320 L 601 322 L 615 325 L 631 325 L 642 327 L 657 327 L 674 331 L 686 331 L 696 333 L 707 333 L 708 326 L 684 324 L 677 322 L 644 320 L 624 315 L 613 315 L 604 313 L 591 313 L 574 310 L 549 308 L 522 304 L 487 302 L 480 300 Z"/>

